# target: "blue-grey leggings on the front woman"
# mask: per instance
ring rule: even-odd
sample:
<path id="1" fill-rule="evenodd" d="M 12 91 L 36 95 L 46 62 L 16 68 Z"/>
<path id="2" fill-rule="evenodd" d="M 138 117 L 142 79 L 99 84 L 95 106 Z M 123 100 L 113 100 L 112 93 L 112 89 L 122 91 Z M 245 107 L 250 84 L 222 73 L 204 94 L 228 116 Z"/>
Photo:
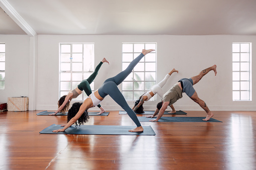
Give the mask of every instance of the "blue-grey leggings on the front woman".
<path id="1" fill-rule="evenodd" d="M 128 103 L 126 102 L 123 94 L 118 89 L 118 85 L 121 84 L 124 79 L 132 72 L 133 68 L 138 64 L 138 62 L 144 57 L 141 53 L 137 58 L 135 58 L 129 66 L 116 75 L 115 77 L 107 79 L 102 86 L 98 89 L 98 92 L 102 98 L 109 95 L 117 104 L 119 104 L 130 116 L 130 118 L 134 121 L 137 127 L 141 126 L 136 114 L 134 111 L 129 107 Z"/>

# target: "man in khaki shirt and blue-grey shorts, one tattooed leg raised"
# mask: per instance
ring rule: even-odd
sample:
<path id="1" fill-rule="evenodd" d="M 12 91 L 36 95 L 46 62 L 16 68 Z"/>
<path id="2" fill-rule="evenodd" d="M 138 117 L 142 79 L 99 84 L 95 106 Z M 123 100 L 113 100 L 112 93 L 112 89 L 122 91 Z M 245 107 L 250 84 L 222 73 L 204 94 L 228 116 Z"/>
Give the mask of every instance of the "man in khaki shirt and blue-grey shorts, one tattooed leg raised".
<path id="1" fill-rule="evenodd" d="M 209 120 L 214 114 L 209 110 L 206 103 L 198 97 L 196 90 L 193 88 L 193 85 L 198 83 L 202 79 L 202 77 L 205 76 L 211 70 L 214 71 L 216 76 L 217 74 L 216 65 L 213 65 L 212 67 L 209 67 L 201 71 L 197 76 L 191 77 L 190 79 L 184 78 L 179 80 L 172 88 L 170 88 L 163 95 L 162 101 L 157 103 L 154 114 L 152 116 L 147 116 L 147 117 L 153 118 L 158 113 L 157 118 L 149 121 L 158 121 L 162 117 L 168 105 L 174 110 L 173 104 L 177 100 L 182 98 L 182 93 L 184 92 L 206 111 L 207 116 L 203 120 L 205 121 Z"/>

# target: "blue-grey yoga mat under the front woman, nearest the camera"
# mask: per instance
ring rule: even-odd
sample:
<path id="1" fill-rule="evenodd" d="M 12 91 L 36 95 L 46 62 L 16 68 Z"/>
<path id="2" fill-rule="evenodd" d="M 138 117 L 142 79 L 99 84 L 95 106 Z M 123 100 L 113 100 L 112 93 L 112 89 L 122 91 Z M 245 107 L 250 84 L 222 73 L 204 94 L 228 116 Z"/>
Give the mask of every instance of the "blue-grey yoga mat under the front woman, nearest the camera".
<path id="1" fill-rule="evenodd" d="M 61 129 L 60 125 L 52 124 L 39 133 L 42 134 L 113 134 L 113 135 L 155 135 L 151 126 L 143 126 L 143 132 L 129 132 L 136 126 L 108 126 L 108 125 L 81 125 L 75 128 L 75 125 L 68 127 L 64 132 L 52 132 L 52 130 Z"/>

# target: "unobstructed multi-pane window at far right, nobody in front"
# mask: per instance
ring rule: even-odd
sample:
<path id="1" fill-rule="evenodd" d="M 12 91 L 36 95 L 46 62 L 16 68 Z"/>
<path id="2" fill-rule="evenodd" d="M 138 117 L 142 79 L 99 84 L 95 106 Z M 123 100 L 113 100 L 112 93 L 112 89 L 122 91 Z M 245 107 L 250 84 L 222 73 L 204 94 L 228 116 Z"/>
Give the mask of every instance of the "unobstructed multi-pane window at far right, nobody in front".
<path id="1" fill-rule="evenodd" d="M 251 43 L 232 44 L 233 101 L 252 100 Z"/>

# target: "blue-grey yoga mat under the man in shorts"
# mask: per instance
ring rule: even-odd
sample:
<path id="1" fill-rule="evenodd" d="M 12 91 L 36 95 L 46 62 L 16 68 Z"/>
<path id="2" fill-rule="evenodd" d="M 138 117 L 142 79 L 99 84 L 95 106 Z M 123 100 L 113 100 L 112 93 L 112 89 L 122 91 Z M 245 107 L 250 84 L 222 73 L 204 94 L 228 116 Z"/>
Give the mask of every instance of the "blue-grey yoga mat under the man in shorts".
<path id="1" fill-rule="evenodd" d="M 155 118 L 147 118 L 147 117 L 142 117 L 142 116 L 138 117 L 140 122 L 149 121 L 149 120 L 155 119 Z M 205 117 L 161 117 L 158 120 L 158 122 L 222 122 L 222 121 L 216 120 L 214 118 L 210 118 L 210 120 L 204 121 L 204 120 L 202 120 L 204 118 Z"/>

